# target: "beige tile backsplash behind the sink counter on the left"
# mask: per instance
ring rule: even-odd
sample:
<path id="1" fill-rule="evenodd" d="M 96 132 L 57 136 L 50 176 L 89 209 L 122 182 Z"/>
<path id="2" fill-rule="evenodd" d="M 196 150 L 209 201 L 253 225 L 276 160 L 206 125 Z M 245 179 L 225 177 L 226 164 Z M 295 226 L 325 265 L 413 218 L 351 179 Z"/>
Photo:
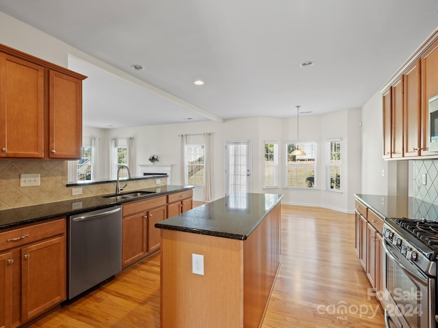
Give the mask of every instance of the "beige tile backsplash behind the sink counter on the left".
<path id="1" fill-rule="evenodd" d="M 20 174 L 40 174 L 40 185 L 20 187 Z M 66 187 L 68 161 L 0 161 L 0 210 L 35 204 L 71 200 L 93 195 L 114 193 L 115 182 L 81 186 L 82 195 L 72 196 Z M 165 185 L 167 179 L 156 184 L 154 179 L 127 181 L 125 191 Z"/>

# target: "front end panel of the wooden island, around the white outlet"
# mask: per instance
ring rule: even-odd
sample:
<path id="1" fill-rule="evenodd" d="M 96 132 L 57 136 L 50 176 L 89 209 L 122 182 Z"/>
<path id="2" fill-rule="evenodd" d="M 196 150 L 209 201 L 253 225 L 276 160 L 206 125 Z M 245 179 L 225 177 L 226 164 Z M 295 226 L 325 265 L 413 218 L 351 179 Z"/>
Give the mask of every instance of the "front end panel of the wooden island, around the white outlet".
<path id="1" fill-rule="evenodd" d="M 162 230 L 161 327 L 243 327 L 242 241 Z M 192 273 L 204 256 L 204 275 Z"/>

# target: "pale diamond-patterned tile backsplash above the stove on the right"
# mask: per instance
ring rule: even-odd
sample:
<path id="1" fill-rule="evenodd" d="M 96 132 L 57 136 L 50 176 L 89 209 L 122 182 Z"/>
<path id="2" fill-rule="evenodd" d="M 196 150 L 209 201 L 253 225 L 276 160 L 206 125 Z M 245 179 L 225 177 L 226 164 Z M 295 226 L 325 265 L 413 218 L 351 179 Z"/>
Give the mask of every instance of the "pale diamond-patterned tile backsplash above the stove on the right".
<path id="1" fill-rule="evenodd" d="M 426 184 L 423 175 L 426 174 Z M 413 161 L 413 195 L 438 205 L 438 159 Z"/>

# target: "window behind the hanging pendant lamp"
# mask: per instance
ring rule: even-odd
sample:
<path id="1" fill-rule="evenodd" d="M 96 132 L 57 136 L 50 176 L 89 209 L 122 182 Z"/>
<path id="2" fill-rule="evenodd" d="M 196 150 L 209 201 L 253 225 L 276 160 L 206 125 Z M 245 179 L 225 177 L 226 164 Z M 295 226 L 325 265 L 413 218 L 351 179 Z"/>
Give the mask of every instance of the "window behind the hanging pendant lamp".
<path id="1" fill-rule="evenodd" d="M 299 145 L 306 154 L 292 156 L 296 143 L 286 143 L 286 187 L 315 188 L 316 143 L 300 142 Z"/>

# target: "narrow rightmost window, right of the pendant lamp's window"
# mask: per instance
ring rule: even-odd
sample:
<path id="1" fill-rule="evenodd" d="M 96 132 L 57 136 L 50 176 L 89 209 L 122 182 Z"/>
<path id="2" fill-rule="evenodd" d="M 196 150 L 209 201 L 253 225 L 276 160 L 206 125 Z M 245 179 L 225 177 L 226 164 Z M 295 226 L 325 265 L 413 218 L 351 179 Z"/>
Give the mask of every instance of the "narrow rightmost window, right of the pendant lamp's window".
<path id="1" fill-rule="evenodd" d="M 341 190 L 341 139 L 326 141 L 326 190 Z"/>

